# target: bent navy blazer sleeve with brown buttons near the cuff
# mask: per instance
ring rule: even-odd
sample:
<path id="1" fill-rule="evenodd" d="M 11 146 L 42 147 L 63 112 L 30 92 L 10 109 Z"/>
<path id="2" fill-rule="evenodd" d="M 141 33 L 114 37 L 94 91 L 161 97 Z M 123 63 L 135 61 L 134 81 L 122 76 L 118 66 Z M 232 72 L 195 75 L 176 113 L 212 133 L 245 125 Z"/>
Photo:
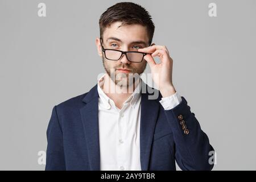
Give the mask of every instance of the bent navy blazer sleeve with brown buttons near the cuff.
<path id="1" fill-rule="evenodd" d="M 211 170 L 214 164 L 209 162 L 209 152 L 214 149 L 187 101 L 181 98 L 179 105 L 164 110 L 174 133 L 175 160 L 182 170 Z"/>

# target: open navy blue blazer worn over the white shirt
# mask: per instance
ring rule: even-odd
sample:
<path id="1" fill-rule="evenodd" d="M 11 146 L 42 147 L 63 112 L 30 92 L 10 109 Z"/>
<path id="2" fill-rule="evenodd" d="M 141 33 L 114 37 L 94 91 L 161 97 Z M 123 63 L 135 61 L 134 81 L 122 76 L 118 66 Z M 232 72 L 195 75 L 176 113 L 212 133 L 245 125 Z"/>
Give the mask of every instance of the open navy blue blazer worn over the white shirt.
<path id="1" fill-rule="evenodd" d="M 152 88 L 151 88 L 152 89 Z M 150 92 L 152 93 L 152 92 Z M 141 168 L 210 170 L 207 135 L 184 97 L 179 105 L 164 110 L 159 100 L 142 93 L 140 148 Z M 182 115 L 189 133 L 180 125 Z M 53 107 L 47 128 L 46 170 L 100 170 L 97 84 L 87 93 Z"/>

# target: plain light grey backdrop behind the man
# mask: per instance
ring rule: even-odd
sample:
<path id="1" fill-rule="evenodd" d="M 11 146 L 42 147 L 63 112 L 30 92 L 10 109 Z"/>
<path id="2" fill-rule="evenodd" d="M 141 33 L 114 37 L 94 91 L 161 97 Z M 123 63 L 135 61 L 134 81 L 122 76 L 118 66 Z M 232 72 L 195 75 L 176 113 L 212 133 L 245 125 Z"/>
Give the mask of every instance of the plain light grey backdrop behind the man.
<path id="1" fill-rule="evenodd" d="M 94 42 L 100 15 L 116 2 L 0 0 L 0 169 L 44 169 L 38 151 L 52 107 L 88 92 L 104 72 Z M 175 88 L 216 149 L 214 170 L 255 170 L 256 1 L 133 2 L 150 12 L 154 42 L 171 53 Z"/>

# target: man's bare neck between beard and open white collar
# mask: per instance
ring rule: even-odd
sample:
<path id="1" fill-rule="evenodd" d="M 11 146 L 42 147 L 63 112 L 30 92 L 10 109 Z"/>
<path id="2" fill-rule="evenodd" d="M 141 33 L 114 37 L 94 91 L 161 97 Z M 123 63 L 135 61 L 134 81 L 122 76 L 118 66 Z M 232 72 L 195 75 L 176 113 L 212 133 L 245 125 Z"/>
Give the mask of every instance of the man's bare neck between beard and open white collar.
<path id="1" fill-rule="evenodd" d="M 114 81 L 109 77 L 108 74 L 105 74 L 104 85 L 102 86 L 103 92 L 112 99 L 119 109 L 122 108 L 123 102 L 125 102 L 131 94 L 133 94 L 135 88 L 139 84 L 139 79 L 137 79 L 133 84 L 129 86 L 119 86 L 115 85 Z"/>

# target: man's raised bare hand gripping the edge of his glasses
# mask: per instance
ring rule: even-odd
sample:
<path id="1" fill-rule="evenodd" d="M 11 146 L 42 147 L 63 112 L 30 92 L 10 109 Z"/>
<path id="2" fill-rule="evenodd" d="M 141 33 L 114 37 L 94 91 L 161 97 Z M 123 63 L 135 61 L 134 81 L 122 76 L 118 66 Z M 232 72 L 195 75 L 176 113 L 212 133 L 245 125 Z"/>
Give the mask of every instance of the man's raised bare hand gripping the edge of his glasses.
<path id="1" fill-rule="evenodd" d="M 172 59 L 166 46 L 153 45 L 138 49 L 139 52 L 151 53 L 144 56 L 150 65 L 152 79 L 158 86 L 163 97 L 171 96 L 176 92 L 172 84 Z M 160 57 L 160 63 L 156 64 L 153 57 Z"/>

